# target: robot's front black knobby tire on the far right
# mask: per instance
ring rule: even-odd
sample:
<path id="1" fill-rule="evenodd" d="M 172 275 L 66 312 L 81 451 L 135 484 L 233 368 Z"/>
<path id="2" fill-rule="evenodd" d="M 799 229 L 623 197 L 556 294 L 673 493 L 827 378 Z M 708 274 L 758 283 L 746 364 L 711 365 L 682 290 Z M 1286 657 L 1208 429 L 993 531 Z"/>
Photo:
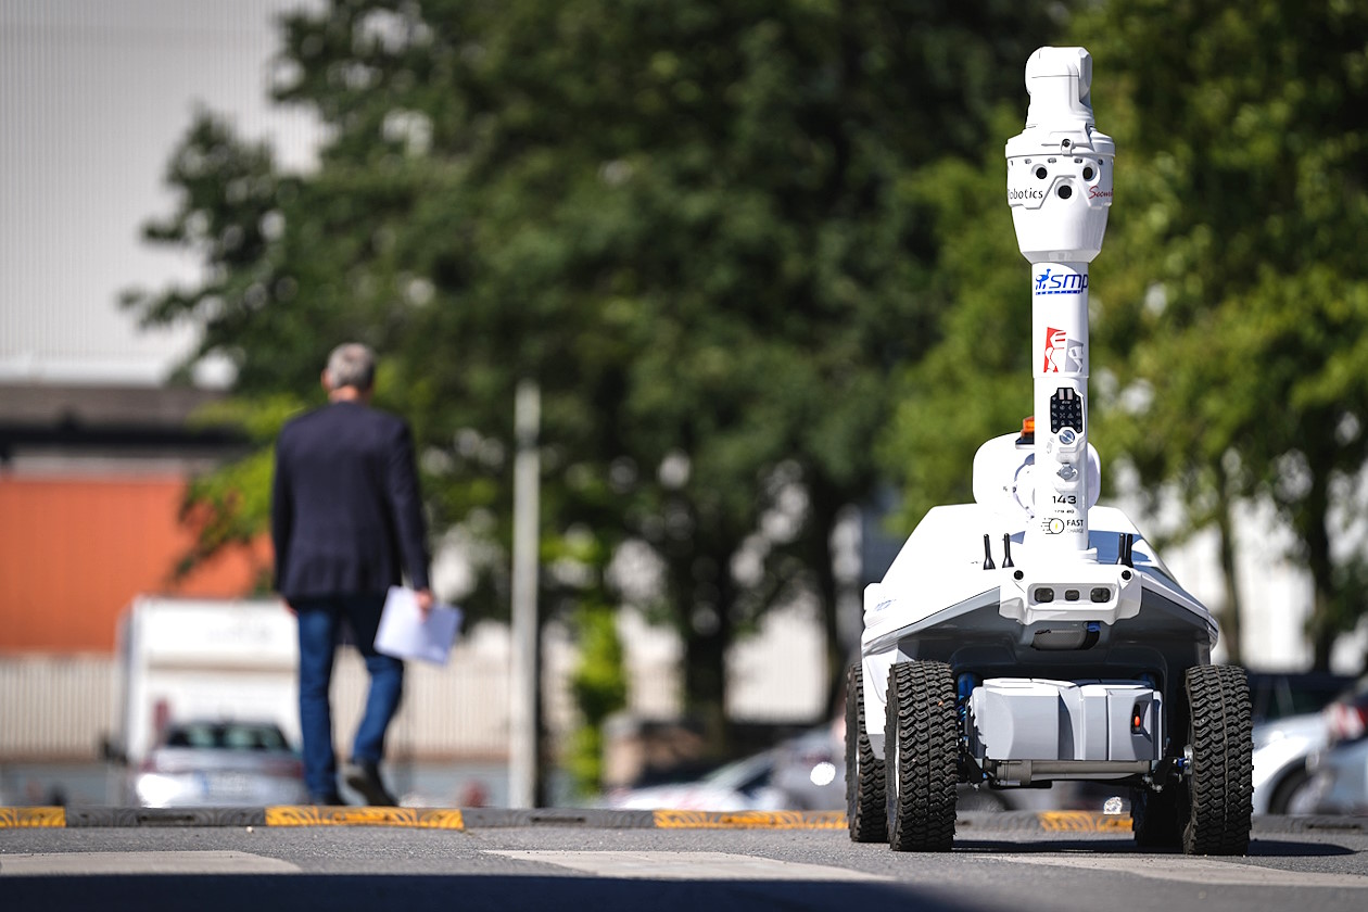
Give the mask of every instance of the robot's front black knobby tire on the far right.
<path id="1" fill-rule="evenodd" d="M 1235 666 L 1187 669 L 1192 770 L 1183 826 L 1187 855 L 1245 855 L 1254 811 L 1249 678 Z"/>

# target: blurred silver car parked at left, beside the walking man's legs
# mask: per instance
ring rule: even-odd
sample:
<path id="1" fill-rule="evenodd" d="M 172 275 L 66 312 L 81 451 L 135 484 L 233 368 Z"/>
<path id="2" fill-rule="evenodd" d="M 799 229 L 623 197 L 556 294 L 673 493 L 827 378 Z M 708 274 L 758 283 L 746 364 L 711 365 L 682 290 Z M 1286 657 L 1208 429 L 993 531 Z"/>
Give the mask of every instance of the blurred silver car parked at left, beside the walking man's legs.
<path id="1" fill-rule="evenodd" d="M 305 804 L 304 767 L 274 722 L 168 725 L 133 774 L 144 807 Z"/>

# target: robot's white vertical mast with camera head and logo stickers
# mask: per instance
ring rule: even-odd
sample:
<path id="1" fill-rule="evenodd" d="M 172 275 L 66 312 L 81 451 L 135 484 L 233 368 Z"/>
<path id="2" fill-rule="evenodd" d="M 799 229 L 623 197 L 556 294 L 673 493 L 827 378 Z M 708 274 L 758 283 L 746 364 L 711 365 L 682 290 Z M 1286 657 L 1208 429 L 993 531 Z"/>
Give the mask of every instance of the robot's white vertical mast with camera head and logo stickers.
<path id="1" fill-rule="evenodd" d="M 1026 540 L 1088 552 L 1088 264 L 1103 247 L 1116 146 L 1097 131 L 1082 48 L 1026 63 L 1026 129 L 1007 142 L 1007 202 L 1031 263 L 1034 514 Z"/>

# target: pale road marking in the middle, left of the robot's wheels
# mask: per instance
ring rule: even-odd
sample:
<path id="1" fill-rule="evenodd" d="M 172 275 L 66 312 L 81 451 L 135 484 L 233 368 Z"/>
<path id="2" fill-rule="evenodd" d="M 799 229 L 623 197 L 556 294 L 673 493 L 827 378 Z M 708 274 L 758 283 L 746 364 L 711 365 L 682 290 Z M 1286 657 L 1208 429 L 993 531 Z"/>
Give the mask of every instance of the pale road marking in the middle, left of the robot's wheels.
<path id="1" fill-rule="evenodd" d="M 825 864 L 776 861 L 726 852 L 560 852 L 488 850 L 518 861 L 632 881 L 880 881 L 892 878 Z"/>

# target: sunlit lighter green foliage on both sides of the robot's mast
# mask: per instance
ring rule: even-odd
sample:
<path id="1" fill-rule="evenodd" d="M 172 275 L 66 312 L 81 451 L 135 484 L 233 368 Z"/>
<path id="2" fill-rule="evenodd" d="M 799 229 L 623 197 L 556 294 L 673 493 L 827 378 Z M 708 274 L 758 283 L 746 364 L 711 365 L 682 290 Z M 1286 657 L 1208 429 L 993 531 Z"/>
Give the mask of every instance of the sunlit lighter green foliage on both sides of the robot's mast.
<path id="1" fill-rule="evenodd" d="M 1215 525 L 1227 643 L 1235 536 L 1260 533 L 1234 529 L 1233 511 L 1278 509 L 1315 581 L 1317 667 L 1365 604 L 1363 548 L 1337 541 L 1363 521 L 1352 492 L 1368 459 L 1365 38 L 1361 4 L 1141 0 L 1090 7 L 1067 40 L 1093 55 L 1097 123 L 1118 144 L 1092 269 L 1093 440 L 1155 496 L 1181 498 L 1181 535 Z M 997 135 L 1021 130 L 1025 107 L 1019 93 Z M 1030 409 L 1025 261 L 992 152 L 915 189 L 940 213 L 947 308 L 881 446 L 907 525 L 970 496 L 974 448 Z"/>

